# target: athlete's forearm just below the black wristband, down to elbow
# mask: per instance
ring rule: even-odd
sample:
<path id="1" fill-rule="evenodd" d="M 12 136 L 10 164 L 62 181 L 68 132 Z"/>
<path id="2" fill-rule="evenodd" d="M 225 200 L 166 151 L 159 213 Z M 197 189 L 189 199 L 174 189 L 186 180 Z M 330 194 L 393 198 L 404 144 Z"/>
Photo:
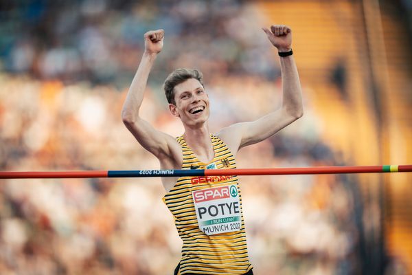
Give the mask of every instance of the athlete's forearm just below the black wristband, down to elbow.
<path id="1" fill-rule="evenodd" d="M 302 91 L 295 59 L 280 57 L 282 72 L 282 108 L 290 115 L 300 118 L 303 113 Z"/>

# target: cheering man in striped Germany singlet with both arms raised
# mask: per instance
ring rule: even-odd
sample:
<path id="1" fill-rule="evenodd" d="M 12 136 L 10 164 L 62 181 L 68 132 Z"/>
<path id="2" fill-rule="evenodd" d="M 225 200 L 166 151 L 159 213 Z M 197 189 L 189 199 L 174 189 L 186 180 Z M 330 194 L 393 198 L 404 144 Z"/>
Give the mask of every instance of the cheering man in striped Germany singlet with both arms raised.
<path id="1" fill-rule="evenodd" d="M 161 169 L 236 168 L 240 148 L 265 140 L 303 115 L 292 31 L 285 25 L 262 30 L 279 52 L 282 106 L 258 120 L 212 134 L 207 123 L 210 102 L 201 72 L 176 69 L 163 85 L 170 113 L 180 118 L 185 129 L 176 138 L 157 131 L 139 114 L 150 69 L 163 48 L 164 31 L 144 34 L 145 51 L 124 102 L 122 119 L 141 146 L 159 159 Z M 174 274 L 253 274 L 238 177 L 194 178 L 162 177 L 163 201 L 174 215 L 183 241 Z"/>

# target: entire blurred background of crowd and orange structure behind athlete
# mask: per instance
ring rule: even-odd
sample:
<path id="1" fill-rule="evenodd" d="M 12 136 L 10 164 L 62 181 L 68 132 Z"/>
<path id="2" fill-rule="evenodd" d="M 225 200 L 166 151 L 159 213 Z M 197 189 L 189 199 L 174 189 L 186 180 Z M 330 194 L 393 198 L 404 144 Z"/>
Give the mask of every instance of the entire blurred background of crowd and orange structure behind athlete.
<path id="1" fill-rule="evenodd" d="M 275 109 L 279 63 L 260 29 L 271 23 L 293 29 L 305 115 L 242 149 L 238 167 L 410 164 L 410 12 L 411 1 L 3 1 L 0 168 L 157 168 L 120 118 L 147 30 L 165 30 L 142 106 L 158 129 L 183 132 L 161 89 L 176 67 L 205 74 L 213 131 Z M 407 177 L 242 177 L 255 274 L 410 274 Z M 181 241 L 163 195 L 159 179 L 1 180 L 0 274 L 171 274 Z"/>

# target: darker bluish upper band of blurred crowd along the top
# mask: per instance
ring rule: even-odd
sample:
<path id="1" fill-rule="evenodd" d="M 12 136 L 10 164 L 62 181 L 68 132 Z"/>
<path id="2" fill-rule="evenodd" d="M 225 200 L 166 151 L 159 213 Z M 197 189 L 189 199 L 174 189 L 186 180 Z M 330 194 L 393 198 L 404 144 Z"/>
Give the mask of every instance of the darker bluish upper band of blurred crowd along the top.
<path id="1" fill-rule="evenodd" d="M 159 80 L 175 64 L 187 63 L 202 67 L 205 73 L 273 76 L 267 51 L 260 52 L 266 38 L 251 24 L 259 20 L 259 14 L 242 2 L 8 3 L 1 28 L 3 67 L 42 79 L 128 83 L 141 55 L 144 32 L 163 28 L 166 44 L 159 61 L 163 74 L 155 74 Z"/>

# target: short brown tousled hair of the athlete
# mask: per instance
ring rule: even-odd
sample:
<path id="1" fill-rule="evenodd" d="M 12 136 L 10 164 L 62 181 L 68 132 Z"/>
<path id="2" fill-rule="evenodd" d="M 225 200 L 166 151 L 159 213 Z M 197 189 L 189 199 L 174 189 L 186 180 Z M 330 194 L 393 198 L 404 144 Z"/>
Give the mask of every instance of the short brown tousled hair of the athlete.
<path id="1" fill-rule="evenodd" d="M 205 87 L 205 85 L 203 85 L 203 74 L 197 69 L 179 68 L 169 74 L 165 83 L 163 83 L 163 89 L 165 90 L 166 98 L 170 104 L 176 104 L 176 101 L 174 101 L 174 87 L 190 78 L 197 79 L 198 82 Z"/>

